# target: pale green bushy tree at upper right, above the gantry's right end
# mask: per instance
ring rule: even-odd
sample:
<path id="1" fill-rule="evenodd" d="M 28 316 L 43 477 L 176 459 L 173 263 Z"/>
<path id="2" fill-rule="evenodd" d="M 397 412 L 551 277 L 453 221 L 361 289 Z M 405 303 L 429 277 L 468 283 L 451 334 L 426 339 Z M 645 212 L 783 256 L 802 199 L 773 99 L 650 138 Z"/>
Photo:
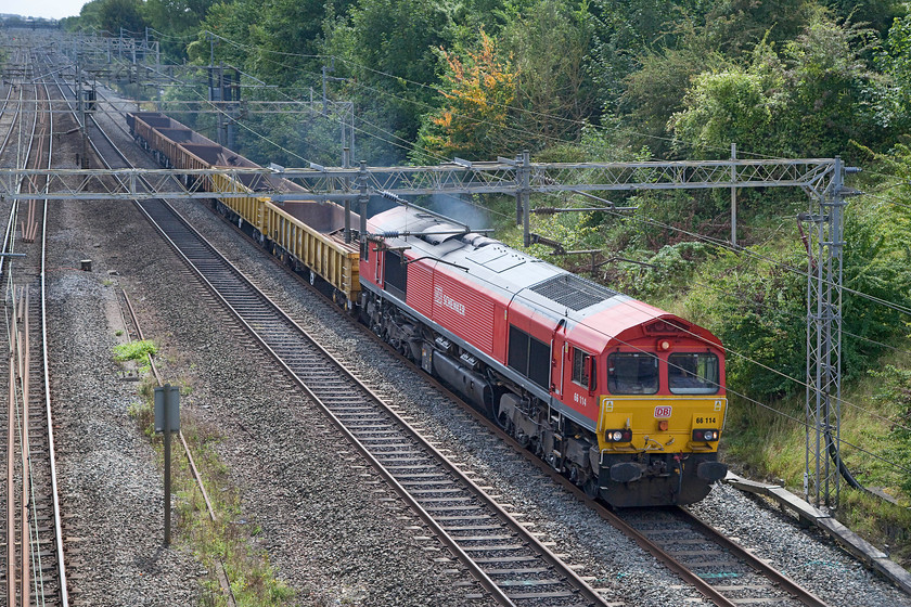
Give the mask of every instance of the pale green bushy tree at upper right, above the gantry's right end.
<path id="1" fill-rule="evenodd" d="M 826 157 L 849 152 L 851 140 L 875 141 L 877 77 L 862 57 L 870 34 L 818 13 L 781 52 L 764 40 L 745 67 L 694 76 L 668 128 L 700 152 L 735 142 L 747 152 Z"/>

